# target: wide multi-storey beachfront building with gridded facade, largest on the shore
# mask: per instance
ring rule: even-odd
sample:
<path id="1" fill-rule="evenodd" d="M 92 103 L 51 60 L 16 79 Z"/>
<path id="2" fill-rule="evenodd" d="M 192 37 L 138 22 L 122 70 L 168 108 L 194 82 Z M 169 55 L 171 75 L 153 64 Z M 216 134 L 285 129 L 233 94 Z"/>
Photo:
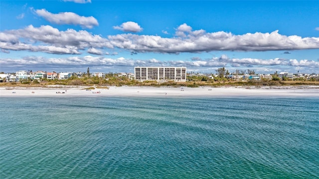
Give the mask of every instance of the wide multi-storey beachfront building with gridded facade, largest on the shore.
<path id="1" fill-rule="evenodd" d="M 186 81 L 186 67 L 135 67 L 135 80 Z"/>

